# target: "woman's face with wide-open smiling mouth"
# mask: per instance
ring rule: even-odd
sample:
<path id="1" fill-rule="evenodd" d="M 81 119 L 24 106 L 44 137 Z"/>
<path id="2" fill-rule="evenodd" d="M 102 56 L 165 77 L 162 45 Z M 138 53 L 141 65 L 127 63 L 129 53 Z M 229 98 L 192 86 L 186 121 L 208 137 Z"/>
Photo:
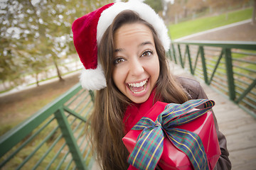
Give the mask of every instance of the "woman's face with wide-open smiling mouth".
<path id="1" fill-rule="evenodd" d="M 148 26 L 124 24 L 114 33 L 114 71 L 119 91 L 134 103 L 149 98 L 159 77 L 159 57 Z"/>

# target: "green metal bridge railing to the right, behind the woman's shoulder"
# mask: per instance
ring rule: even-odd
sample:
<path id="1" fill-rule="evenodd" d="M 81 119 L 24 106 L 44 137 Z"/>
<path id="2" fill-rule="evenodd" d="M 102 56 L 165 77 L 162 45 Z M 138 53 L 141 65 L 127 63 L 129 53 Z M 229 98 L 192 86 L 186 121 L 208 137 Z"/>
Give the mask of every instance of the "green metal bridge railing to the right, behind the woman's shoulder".
<path id="1" fill-rule="evenodd" d="M 256 42 L 174 41 L 169 57 L 256 118 Z"/>

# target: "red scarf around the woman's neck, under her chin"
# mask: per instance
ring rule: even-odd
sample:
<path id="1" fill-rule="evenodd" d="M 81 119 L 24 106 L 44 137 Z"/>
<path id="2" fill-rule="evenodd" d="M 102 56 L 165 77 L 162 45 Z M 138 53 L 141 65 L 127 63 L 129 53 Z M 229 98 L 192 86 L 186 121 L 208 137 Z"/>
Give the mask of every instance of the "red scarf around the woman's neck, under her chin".
<path id="1" fill-rule="evenodd" d="M 146 114 L 147 111 L 154 105 L 155 89 L 151 92 L 149 98 L 144 103 L 132 103 L 127 106 L 124 113 L 123 123 L 125 134 L 134 127 L 134 125 Z"/>

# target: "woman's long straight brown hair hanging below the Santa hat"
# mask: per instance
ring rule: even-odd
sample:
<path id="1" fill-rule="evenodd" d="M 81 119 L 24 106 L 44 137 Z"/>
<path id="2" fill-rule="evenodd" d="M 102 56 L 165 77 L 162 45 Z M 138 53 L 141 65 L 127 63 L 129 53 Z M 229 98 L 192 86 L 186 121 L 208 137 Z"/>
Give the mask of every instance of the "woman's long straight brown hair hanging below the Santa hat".
<path id="1" fill-rule="evenodd" d="M 134 11 L 126 10 L 119 13 L 98 45 L 98 57 L 105 72 L 107 87 L 97 91 L 95 109 L 90 118 L 92 148 L 103 169 L 127 169 L 129 166 L 127 164 L 129 153 L 122 143 L 124 137 L 122 118 L 131 101 L 117 89 L 112 79 L 114 32 L 124 23 L 143 23 L 151 29 L 160 65 L 155 99 L 161 98 L 161 101 L 167 103 L 183 103 L 188 100 L 180 84 L 169 72 L 164 47 L 154 28 Z"/>

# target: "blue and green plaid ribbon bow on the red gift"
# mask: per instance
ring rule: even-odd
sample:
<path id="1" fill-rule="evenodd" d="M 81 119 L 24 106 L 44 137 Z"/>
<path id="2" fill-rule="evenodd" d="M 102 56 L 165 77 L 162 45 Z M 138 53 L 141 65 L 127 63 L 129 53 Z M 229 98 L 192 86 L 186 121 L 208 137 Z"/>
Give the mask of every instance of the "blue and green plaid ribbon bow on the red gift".
<path id="1" fill-rule="evenodd" d="M 201 105 L 203 105 L 202 109 L 191 111 Z M 188 156 L 194 169 L 208 169 L 206 152 L 200 137 L 194 132 L 175 127 L 200 117 L 214 105 L 214 101 L 206 99 L 190 100 L 183 104 L 170 103 L 155 122 L 143 117 L 132 128 L 142 132 L 129 155 L 128 163 L 137 169 L 155 169 L 163 153 L 163 141 L 166 135 L 174 146 Z"/>

